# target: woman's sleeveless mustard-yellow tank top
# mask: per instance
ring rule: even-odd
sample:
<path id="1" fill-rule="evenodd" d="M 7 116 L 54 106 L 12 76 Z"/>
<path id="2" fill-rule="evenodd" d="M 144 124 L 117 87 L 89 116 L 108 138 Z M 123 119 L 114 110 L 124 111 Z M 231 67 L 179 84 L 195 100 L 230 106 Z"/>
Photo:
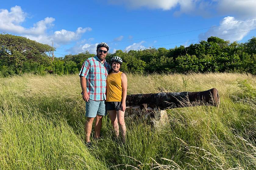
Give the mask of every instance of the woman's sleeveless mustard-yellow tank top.
<path id="1" fill-rule="evenodd" d="M 107 77 L 107 100 L 106 101 L 122 101 L 122 72 L 117 74 L 108 74 Z"/>

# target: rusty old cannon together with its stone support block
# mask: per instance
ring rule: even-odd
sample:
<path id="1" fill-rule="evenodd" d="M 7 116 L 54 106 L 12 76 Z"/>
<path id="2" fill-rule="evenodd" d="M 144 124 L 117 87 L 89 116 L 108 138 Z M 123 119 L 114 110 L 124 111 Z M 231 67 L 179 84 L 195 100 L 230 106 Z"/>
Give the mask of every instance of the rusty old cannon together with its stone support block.
<path id="1" fill-rule="evenodd" d="M 166 109 L 191 106 L 216 106 L 220 104 L 218 90 L 212 88 L 199 92 L 169 92 L 132 94 L 126 97 L 126 117 L 149 120 L 153 127 L 169 122 Z"/>

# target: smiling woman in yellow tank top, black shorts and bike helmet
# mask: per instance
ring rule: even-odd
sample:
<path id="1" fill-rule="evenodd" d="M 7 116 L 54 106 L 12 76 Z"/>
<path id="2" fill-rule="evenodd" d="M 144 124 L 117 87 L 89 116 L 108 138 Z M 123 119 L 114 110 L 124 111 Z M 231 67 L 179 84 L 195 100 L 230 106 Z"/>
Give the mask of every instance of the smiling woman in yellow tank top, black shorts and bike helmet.
<path id="1" fill-rule="evenodd" d="M 126 109 L 127 77 L 119 71 L 122 63 L 123 60 L 119 56 L 111 59 L 111 69 L 107 77 L 106 107 L 116 133 L 116 138 L 119 136 L 120 129 L 122 142 L 124 143 L 126 138 L 124 112 Z"/>

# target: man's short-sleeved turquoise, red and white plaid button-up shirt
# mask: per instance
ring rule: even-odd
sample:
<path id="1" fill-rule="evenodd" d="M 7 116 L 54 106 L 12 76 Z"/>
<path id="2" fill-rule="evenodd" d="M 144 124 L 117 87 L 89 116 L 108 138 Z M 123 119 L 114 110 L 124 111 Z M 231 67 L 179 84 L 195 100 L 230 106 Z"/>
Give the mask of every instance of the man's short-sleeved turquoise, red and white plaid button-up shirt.
<path id="1" fill-rule="evenodd" d="M 91 100 L 106 100 L 106 78 L 111 66 L 104 60 L 103 63 L 97 56 L 88 58 L 79 73 L 86 78 L 86 88 Z"/>

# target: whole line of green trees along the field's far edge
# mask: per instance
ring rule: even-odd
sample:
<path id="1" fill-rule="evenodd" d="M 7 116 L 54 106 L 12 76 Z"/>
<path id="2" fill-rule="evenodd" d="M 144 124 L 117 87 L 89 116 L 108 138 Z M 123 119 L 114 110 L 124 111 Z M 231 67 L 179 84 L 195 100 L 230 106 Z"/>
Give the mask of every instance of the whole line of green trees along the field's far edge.
<path id="1" fill-rule="evenodd" d="M 94 54 L 88 51 L 54 58 L 49 45 L 25 37 L 0 34 L 0 77 L 9 75 L 78 73 L 83 62 Z M 96 50 L 96 49 L 95 49 Z M 256 37 L 245 43 L 209 37 L 207 41 L 172 49 L 117 50 L 108 54 L 123 59 L 121 70 L 130 73 L 239 72 L 256 74 Z"/>

